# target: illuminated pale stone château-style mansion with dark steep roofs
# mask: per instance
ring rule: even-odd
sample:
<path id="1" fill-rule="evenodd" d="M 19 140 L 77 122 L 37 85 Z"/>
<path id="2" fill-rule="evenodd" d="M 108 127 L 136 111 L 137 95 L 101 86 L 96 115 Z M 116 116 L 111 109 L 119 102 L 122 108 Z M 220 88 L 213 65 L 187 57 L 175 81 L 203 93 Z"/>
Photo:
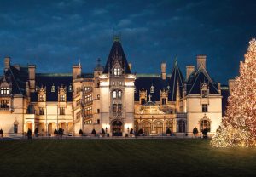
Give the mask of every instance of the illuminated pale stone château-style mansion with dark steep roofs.
<path id="1" fill-rule="evenodd" d="M 223 117 L 228 87 L 215 83 L 207 72 L 206 55 L 196 66 L 186 66 L 183 75 L 177 60 L 172 72 L 135 74 L 118 38 L 105 66 L 98 62 L 93 72 L 74 65 L 72 73 L 38 73 L 35 65 L 12 65 L 4 59 L 0 77 L 0 128 L 5 136 L 21 136 L 28 128 L 39 135 L 99 134 L 125 136 L 131 129 L 146 135 L 191 135 L 207 128 L 216 132 Z M 230 85 L 232 82 L 230 81 Z"/>

